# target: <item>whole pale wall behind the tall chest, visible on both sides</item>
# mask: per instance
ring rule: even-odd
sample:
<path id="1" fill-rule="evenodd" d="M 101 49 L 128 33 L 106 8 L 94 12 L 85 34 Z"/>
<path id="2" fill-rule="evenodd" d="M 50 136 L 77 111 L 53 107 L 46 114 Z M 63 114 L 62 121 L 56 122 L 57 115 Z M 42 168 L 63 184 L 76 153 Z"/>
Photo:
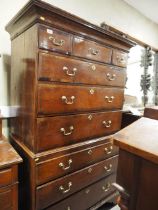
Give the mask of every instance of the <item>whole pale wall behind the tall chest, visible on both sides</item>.
<path id="1" fill-rule="evenodd" d="M 158 26 L 123 0 L 45 0 L 99 25 L 105 21 L 131 36 L 158 48 Z M 10 39 L 5 25 L 27 0 L 0 1 L 0 106 L 9 105 Z"/>

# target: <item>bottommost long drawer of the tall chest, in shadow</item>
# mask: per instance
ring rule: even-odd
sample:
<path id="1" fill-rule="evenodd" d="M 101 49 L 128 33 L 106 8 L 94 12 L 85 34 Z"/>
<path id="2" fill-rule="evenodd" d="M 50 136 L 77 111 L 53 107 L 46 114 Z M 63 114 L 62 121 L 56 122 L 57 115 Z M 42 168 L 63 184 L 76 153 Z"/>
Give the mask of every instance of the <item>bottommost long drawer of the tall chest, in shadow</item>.
<path id="1" fill-rule="evenodd" d="M 115 175 L 110 175 L 46 210 L 87 210 L 114 193 L 115 190 L 111 184 L 115 182 L 115 179 Z"/>

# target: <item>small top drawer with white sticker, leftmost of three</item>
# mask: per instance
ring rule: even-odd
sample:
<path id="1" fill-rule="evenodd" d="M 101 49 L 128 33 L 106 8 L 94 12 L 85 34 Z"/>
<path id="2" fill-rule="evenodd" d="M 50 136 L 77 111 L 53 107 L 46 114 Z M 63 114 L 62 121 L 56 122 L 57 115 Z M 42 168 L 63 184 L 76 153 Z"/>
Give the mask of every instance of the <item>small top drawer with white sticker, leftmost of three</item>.
<path id="1" fill-rule="evenodd" d="M 69 54 L 72 50 L 72 37 L 58 29 L 40 26 L 39 48 Z"/>

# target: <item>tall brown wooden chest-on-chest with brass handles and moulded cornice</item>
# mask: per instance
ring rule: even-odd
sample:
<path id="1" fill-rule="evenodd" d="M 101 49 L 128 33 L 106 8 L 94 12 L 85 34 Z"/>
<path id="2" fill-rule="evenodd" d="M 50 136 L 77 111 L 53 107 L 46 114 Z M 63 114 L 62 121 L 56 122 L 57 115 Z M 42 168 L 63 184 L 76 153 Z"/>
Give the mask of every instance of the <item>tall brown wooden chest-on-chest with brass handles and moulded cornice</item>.
<path id="1" fill-rule="evenodd" d="M 12 39 L 12 143 L 24 159 L 24 210 L 86 210 L 115 195 L 127 53 L 133 43 L 42 1 L 6 30 Z M 99 204 L 98 204 L 99 205 Z"/>

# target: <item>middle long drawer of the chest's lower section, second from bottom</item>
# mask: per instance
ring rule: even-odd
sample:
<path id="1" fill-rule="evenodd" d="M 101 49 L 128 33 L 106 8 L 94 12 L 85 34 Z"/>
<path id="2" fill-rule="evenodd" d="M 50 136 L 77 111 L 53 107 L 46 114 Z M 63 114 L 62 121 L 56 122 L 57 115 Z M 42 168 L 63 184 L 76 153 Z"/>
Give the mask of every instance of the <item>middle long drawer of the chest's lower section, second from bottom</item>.
<path id="1" fill-rule="evenodd" d="M 116 171 L 117 158 L 118 156 L 109 158 L 61 179 L 37 187 L 37 209 L 44 209 Z"/>

